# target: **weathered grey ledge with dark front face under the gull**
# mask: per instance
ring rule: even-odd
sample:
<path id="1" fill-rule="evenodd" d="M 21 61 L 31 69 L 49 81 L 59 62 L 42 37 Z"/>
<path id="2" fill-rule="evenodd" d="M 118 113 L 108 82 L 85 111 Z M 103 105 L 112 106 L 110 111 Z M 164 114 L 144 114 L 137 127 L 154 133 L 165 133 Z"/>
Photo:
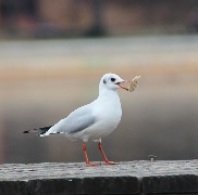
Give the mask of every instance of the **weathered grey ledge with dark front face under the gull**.
<path id="1" fill-rule="evenodd" d="M 198 194 L 198 160 L 0 165 L 1 195 Z"/>

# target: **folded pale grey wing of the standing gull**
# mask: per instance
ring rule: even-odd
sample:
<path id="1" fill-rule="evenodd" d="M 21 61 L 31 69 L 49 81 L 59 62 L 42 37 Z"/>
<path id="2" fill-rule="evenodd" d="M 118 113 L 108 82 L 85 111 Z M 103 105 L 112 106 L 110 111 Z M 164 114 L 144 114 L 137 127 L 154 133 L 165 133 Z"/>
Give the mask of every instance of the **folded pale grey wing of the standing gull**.
<path id="1" fill-rule="evenodd" d="M 87 107 L 81 107 L 72 112 L 67 118 L 60 120 L 49 131 L 48 134 L 65 133 L 72 134 L 82 131 L 96 122 L 96 117 Z"/>

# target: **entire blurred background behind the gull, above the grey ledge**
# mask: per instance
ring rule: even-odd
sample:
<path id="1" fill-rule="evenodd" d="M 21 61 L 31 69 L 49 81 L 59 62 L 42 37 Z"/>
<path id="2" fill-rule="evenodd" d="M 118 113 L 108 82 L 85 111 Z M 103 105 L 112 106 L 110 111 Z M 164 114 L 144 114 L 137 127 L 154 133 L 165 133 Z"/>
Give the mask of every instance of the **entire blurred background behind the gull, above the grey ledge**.
<path id="1" fill-rule="evenodd" d="M 0 0 L 0 163 L 83 161 L 81 142 L 22 132 L 94 100 L 107 72 L 142 76 L 119 91 L 109 159 L 198 158 L 197 33 L 197 0 Z"/>

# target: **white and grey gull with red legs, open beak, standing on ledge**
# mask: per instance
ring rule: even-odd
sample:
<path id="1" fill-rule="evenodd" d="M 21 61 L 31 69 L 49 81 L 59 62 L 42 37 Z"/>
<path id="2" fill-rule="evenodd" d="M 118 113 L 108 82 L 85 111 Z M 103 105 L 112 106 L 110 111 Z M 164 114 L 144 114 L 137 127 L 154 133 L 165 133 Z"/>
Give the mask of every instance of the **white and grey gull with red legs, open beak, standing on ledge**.
<path id="1" fill-rule="evenodd" d="M 99 95 L 96 100 L 77 108 L 53 126 L 24 131 L 23 133 L 35 132 L 40 137 L 61 134 L 72 141 L 82 140 L 82 151 L 87 166 L 96 166 L 96 164 L 90 162 L 88 158 L 86 142 L 96 141 L 104 164 L 117 164 L 108 160 L 103 150 L 102 138 L 112 133 L 120 123 L 122 108 L 117 90 L 129 90 L 122 85 L 124 82 L 125 80 L 116 74 L 103 75 L 99 83 Z"/>

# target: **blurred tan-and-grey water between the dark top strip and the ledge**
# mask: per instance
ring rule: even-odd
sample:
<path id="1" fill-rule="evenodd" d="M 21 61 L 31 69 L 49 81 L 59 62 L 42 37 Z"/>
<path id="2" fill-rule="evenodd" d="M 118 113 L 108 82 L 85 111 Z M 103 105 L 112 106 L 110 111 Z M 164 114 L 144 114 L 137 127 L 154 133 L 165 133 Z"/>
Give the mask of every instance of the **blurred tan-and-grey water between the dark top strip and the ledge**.
<path id="1" fill-rule="evenodd" d="M 82 161 L 81 143 L 23 135 L 98 95 L 106 72 L 142 79 L 119 91 L 123 118 L 106 137 L 110 159 L 197 158 L 198 37 L 136 37 L 0 43 L 0 161 Z M 100 160 L 95 143 L 90 159 Z"/>

